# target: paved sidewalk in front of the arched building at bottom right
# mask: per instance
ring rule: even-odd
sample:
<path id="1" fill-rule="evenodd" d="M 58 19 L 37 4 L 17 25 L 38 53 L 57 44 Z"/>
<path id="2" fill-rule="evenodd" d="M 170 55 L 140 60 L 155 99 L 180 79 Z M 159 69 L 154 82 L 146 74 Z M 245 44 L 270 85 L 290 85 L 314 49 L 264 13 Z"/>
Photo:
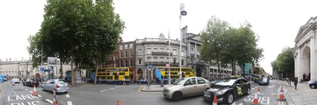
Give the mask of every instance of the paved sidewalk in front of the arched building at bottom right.
<path id="1" fill-rule="evenodd" d="M 317 89 L 311 89 L 308 82 L 297 83 L 297 90 L 294 82 L 291 85 L 286 84 L 287 93 L 284 94 L 288 105 L 317 105 Z"/>

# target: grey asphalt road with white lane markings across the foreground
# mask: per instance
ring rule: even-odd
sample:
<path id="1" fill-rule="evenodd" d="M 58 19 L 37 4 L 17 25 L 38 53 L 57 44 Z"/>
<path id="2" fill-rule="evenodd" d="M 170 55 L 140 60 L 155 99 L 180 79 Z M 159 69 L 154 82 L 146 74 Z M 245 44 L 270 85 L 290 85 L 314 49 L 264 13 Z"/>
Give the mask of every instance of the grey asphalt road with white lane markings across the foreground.
<path id="1" fill-rule="evenodd" d="M 271 80 L 269 85 L 251 84 L 251 94 L 239 97 L 231 105 L 250 105 L 253 102 L 253 93 L 257 93 L 258 102 L 261 105 L 287 105 L 286 102 L 277 101 L 277 90 L 284 84 Z M 33 96 L 34 87 L 27 87 L 20 84 L 12 86 L 9 82 L 1 83 L 0 105 L 52 105 L 53 94 L 41 91 L 36 87 L 39 96 Z M 59 105 L 212 105 L 204 101 L 202 96 L 187 97 L 179 102 L 163 97 L 162 92 L 142 92 L 141 87 L 146 84 L 131 85 L 84 85 L 81 87 L 70 87 L 67 94 L 58 94 Z M 285 91 L 285 90 L 284 90 Z M 225 104 L 218 104 L 225 105 Z"/>

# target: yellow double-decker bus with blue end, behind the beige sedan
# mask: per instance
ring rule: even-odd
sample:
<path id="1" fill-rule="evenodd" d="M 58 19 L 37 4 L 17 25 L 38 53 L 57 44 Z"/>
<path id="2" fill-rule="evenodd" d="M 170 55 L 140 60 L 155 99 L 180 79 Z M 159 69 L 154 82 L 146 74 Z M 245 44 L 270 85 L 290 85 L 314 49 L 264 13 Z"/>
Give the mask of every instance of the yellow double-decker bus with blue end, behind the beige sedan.
<path id="1" fill-rule="evenodd" d="M 179 67 L 171 67 L 171 79 L 179 78 Z M 192 77 L 195 76 L 193 68 L 190 67 L 181 67 L 182 77 Z M 157 66 L 155 70 L 155 75 L 157 82 L 160 82 L 162 79 L 164 84 L 168 81 L 168 69 L 165 66 Z"/>

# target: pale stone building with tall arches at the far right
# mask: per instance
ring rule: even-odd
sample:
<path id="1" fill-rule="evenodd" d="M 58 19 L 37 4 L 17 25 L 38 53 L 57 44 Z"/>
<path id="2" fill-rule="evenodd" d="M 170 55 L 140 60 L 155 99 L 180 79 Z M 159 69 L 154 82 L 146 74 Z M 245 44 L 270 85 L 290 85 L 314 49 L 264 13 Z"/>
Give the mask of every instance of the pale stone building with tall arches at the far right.
<path id="1" fill-rule="evenodd" d="M 301 26 L 295 38 L 294 61 L 295 77 L 298 81 L 304 80 L 303 74 L 308 76 L 308 80 L 316 80 L 316 31 L 317 17 L 309 19 L 306 24 Z"/>

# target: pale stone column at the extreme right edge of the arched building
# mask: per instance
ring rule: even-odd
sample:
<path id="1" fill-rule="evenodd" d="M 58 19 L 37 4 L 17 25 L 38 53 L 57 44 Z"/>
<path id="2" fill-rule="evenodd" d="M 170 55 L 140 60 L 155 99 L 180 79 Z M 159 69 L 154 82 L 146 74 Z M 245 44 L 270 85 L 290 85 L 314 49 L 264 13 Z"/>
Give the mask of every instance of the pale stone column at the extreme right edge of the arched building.
<path id="1" fill-rule="evenodd" d="M 310 49 L 310 72 L 311 72 L 311 78 L 310 82 L 313 82 L 316 80 L 316 68 L 315 68 L 315 34 L 311 35 L 310 43 L 311 43 L 311 49 Z"/>

